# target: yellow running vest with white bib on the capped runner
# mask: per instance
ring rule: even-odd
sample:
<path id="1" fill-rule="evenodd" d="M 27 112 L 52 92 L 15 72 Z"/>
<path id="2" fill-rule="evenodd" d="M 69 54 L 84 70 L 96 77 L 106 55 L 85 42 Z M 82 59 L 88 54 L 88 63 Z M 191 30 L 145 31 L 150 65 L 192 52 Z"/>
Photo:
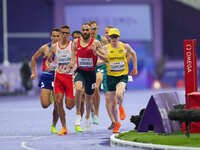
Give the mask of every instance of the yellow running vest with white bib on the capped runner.
<path id="1" fill-rule="evenodd" d="M 128 63 L 124 44 L 120 42 L 120 48 L 112 48 L 108 44 L 108 62 L 106 63 L 107 75 L 121 76 L 128 74 Z"/>

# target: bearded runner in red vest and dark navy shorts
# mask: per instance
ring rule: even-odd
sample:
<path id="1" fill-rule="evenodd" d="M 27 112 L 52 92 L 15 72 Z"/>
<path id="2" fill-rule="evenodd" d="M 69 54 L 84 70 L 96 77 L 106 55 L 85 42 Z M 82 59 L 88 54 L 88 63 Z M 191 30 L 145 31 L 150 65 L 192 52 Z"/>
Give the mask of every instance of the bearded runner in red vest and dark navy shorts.
<path id="1" fill-rule="evenodd" d="M 86 121 L 85 129 L 90 127 L 90 111 L 91 111 L 91 98 L 94 93 L 96 74 L 95 65 L 97 62 L 97 56 L 107 61 L 105 53 L 102 50 L 102 46 L 99 41 L 90 37 L 90 26 L 88 23 L 82 25 L 82 37 L 74 40 L 73 44 L 73 56 L 71 60 L 71 67 L 73 67 L 75 54 L 77 57 L 77 69 L 75 72 L 75 103 L 76 103 L 76 120 L 75 130 L 82 132 L 81 124 L 81 112 L 80 112 L 80 93 L 82 88 L 85 88 L 85 102 L 86 102 Z"/>

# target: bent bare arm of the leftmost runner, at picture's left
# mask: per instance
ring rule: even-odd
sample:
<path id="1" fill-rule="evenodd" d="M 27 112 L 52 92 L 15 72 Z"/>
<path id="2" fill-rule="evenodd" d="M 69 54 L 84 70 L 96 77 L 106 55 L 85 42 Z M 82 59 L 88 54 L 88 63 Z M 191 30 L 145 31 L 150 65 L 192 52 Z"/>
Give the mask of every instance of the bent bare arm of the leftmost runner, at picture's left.
<path id="1" fill-rule="evenodd" d="M 46 45 L 41 46 L 32 56 L 31 58 L 31 79 L 35 80 L 36 79 L 36 72 L 35 72 L 35 64 L 36 64 L 36 60 L 44 54 L 44 49 L 45 49 Z"/>

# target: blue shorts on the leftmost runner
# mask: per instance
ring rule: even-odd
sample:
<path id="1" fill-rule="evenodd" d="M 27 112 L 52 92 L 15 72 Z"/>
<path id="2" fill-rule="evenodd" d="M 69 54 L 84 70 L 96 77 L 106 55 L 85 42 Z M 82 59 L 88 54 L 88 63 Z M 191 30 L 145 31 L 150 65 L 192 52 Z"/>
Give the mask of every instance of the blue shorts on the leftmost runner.
<path id="1" fill-rule="evenodd" d="M 53 90 L 54 74 L 55 74 L 55 71 L 51 71 L 51 72 L 43 71 L 41 76 L 40 76 L 40 80 L 39 80 L 38 86 L 41 89 Z"/>

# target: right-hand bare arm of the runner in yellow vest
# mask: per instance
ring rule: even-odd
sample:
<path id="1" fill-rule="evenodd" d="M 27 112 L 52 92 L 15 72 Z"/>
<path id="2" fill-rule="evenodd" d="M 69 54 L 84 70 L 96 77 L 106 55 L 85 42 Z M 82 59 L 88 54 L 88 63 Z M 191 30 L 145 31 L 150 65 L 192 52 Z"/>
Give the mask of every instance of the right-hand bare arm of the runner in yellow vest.
<path id="1" fill-rule="evenodd" d="M 135 52 L 135 50 L 133 48 L 130 47 L 129 44 L 124 44 L 124 48 L 127 50 L 127 53 L 129 53 L 132 56 L 134 68 L 131 71 L 131 75 L 135 76 L 135 75 L 138 74 L 136 52 Z"/>

